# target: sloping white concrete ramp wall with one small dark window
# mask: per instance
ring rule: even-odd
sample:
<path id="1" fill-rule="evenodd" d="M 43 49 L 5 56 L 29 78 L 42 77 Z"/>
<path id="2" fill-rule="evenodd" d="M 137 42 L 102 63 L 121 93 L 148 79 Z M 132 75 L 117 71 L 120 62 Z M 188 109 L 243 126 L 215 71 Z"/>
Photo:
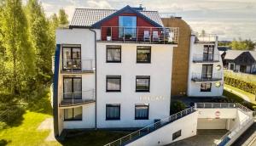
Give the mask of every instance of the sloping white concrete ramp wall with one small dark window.
<path id="1" fill-rule="evenodd" d="M 143 138 L 139 138 L 136 141 L 129 143 L 128 146 L 138 146 L 138 145 L 166 145 L 169 143 L 182 140 L 184 138 L 193 137 L 196 135 L 196 126 L 197 126 L 197 111 L 190 115 L 187 115 L 177 121 L 172 122 L 166 126 L 161 127 L 155 132 L 149 133 Z M 182 124 L 181 124 L 182 123 Z M 181 137 L 172 141 L 172 133 L 181 130 Z"/>

